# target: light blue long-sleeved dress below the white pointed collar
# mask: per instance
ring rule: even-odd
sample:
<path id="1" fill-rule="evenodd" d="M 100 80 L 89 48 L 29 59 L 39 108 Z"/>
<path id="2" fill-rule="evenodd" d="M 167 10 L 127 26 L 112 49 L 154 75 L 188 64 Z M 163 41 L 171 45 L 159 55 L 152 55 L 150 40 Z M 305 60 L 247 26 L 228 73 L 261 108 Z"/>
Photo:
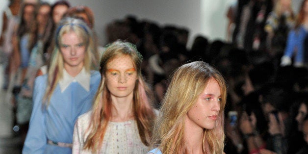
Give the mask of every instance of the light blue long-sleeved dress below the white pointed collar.
<path id="1" fill-rule="evenodd" d="M 61 93 L 58 84 L 46 109 L 42 106 L 42 99 L 47 86 L 47 75 L 37 77 L 33 91 L 33 110 L 23 154 L 72 154 L 72 149 L 49 145 L 47 140 L 73 142 L 73 130 L 77 117 L 91 109 L 100 80 L 100 73 L 91 71 L 89 91 L 86 91 L 78 82 L 72 82 Z"/>

